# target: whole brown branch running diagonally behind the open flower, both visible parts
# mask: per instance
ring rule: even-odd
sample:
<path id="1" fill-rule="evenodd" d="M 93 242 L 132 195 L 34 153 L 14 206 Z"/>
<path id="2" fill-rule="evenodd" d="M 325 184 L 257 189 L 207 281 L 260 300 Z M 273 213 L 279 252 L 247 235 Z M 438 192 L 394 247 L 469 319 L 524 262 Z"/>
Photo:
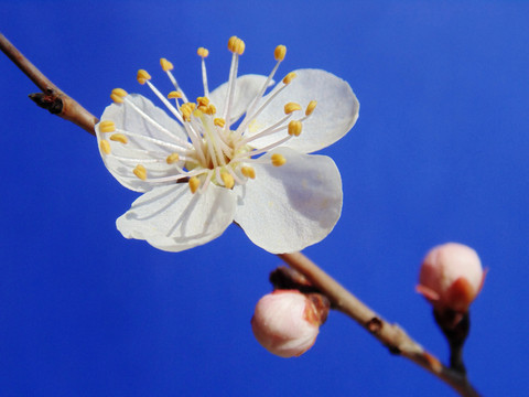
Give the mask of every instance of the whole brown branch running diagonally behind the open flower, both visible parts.
<path id="1" fill-rule="evenodd" d="M 95 135 L 94 127 L 98 119 L 82 107 L 73 98 L 61 92 L 47 79 L 31 62 L 29 62 L 1 33 L 0 49 L 25 73 L 35 85 L 43 90 L 32 97 L 40 106 L 51 112 L 72 121 L 84 130 Z M 355 298 L 331 276 L 320 269 L 313 261 L 301 253 L 278 255 L 293 269 L 306 277 L 313 286 L 324 293 L 333 304 L 333 308 L 348 315 L 371 335 L 378 339 L 393 354 L 399 354 L 411 360 L 422 368 L 429 371 L 441 380 L 450 385 L 461 396 L 478 397 L 478 393 L 467 382 L 465 376 L 447 368 L 432 354 L 413 341 L 397 324 L 390 324 L 381 319 L 366 304 Z"/>

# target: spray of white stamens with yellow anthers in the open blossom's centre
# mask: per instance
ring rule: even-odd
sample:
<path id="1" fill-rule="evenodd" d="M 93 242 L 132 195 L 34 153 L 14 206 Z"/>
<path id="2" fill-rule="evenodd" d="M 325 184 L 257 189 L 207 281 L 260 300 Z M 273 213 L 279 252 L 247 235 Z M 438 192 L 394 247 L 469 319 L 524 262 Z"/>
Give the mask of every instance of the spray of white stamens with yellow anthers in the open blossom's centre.
<path id="1" fill-rule="evenodd" d="M 118 157 L 112 153 L 112 144 L 127 144 L 130 138 L 137 141 L 147 141 L 160 148 L 160 151 L 150 151 L 152 154 L 150 161 L 137 162 L 133 168 L 133 174 L 142 181 L 153 183 L 166 183 L 169 181 L 188 183 L 191 192 L 205 191 L 210 183 L 226 189 L 233 189 L 235 184 L 244 184 L 249 179 L 256 178 L 256 171 L 252 167 L 255 163 L 271 162 L 274 167 L 281 167 L 287 159 L 279 153 L 271 155 L 269 160 L 260 158 L 261 154 L 277 148 L 293 137 L 300 136 L 303 121 L 310 117 L 316 106 L 315 100 L 311 100 L 305 108 L 304 116 L 293 119 L 293 115 L 298 115 L 302 110 L 302 106 L 298 103 L 288 103 L 284 105 L 284 117 L 277 120 L 271 126 L 261 129 L 255 128 L 255 120 L 262 110 L 295 78 L 294 73 L 289 73 L 282 84 L 278 84 L 267 96 L 266 100 L 261 100 L 264 92 L 270 86 L 272 77 L 283 61 L 287 53 L 284 45 L 278 45 L 274 51 L 277 61 L 270 75 L 264 84 L 257 93 L 255 98 L 249 103 L 245 117 L 237 128 L 231 129 L 237 115 L 234 112 L 234 99 L 237 89 L 237 69 L 239 56 L 245 51 L 245 42 L 236 36 L 228 41 L 228 50 L 233 53 L 231 66 L 229 71 L 229 79 L 227 84 L 226 98 L 222 114 L 217 112 L 216 105 L 209 99 L 209 89 L 207 84 L 207 73 L 205 58 L 208 51 L 204 47 L 197 50 L 198 56 L 202 58 L 202 76 L 204 85 L 204 96 L 196 98 L 195 103 L 187 99 L 183 90 L 180 88 L 176 79 L 172 74 L 173 65 L 165 58 L 160 60 L 162 69 L 166 72 L 169 78 L 174 85 L 175 90 L 171 92 L 166 97 L 158 90 L 150 82 L 151 76 L 143 69 L 138 72 L 138 82 L 147 84 L 152 92 L 162 100 L 171 114 L 180 121 L 185 133 L 186 140 L 183 140 L 161 126 L 151 116 L 141 110 L 121 89 L 112 90 L 110 97 L 117 103 L 127 103 L 141 116 L 151 127 L 160 130 L 168 140 L 161 140 L 133 131 L 126 131 L 116 128 L 111 120 L 104 120 L 99 124 L 100 132 L 114 132 L 109 140 L 101 139 L 99 144 L 105 155 L 115 155 L 121 161 L 133 163 L 133 157 Z M 174 100 L 171 103 L 171 100 Z M 219 107 L 220 108 L 220 107 Z M 253 147 L 253 142 L 260 138 L 273 137 L 272 143 L 259 149 Z M 168 149 L 171 154 L 166 155 Z M 171 172 L 165 170 L 163 176 L 156 176 L 155 172 L 150 170 L 150 164 L 165 162 L 170 167 Z M 151 175 L 153 174 L 153 175 Z"/>

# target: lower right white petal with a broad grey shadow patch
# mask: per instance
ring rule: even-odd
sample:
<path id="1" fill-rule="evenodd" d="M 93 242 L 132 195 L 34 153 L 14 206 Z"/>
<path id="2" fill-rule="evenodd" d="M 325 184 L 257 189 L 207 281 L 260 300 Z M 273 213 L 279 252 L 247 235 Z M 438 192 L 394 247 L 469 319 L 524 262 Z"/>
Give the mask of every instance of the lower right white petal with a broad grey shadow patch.
<path id="1" fill-rule="evenodd" d="M 255 165 L 256 179 L 237 187 L 235 222 L 259 247 L 272 254 L 293 253 L 331 233 L 342 212 L 342 180 L 328 157 L 288 148 L 274 152 L 287 163 Z"/>

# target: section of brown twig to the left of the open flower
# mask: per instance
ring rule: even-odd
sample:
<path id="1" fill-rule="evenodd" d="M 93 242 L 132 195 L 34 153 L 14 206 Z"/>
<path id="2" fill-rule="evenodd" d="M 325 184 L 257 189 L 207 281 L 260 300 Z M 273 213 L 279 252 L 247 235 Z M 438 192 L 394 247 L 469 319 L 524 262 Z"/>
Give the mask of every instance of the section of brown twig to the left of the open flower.
<path id="1" fill-rule="evenodd" d="M 28 58 L 20 53 L 17 47 L 0 33 L 0 50 L 24 72 L 24 74 L 39 87 L 42 93 L 31 94 L 30 98 L 40 107 L 50 110 L 65 120 L 72 121 L 85 131 L 96 135 L 94 126 L 98 121 L 97 117 L 91 115 L 72 97 L 63 93 L 55 84 L 42 74 Z"/>

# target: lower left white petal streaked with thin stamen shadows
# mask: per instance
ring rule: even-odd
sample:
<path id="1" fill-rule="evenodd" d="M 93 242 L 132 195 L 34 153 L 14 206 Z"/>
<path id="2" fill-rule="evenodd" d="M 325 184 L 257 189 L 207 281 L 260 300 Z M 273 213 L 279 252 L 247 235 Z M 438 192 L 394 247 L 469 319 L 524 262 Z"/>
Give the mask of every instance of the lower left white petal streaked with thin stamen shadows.
<path id="1" fill-rule="evenodd" d="M 203 194 L 193 194 L 186 183 L 177 183 L 144 193 L 116 225 L 126 238 L 177 253 L 220 236 L 233 222 L 235 207 L 231 190 L 210 184 Z"/>

